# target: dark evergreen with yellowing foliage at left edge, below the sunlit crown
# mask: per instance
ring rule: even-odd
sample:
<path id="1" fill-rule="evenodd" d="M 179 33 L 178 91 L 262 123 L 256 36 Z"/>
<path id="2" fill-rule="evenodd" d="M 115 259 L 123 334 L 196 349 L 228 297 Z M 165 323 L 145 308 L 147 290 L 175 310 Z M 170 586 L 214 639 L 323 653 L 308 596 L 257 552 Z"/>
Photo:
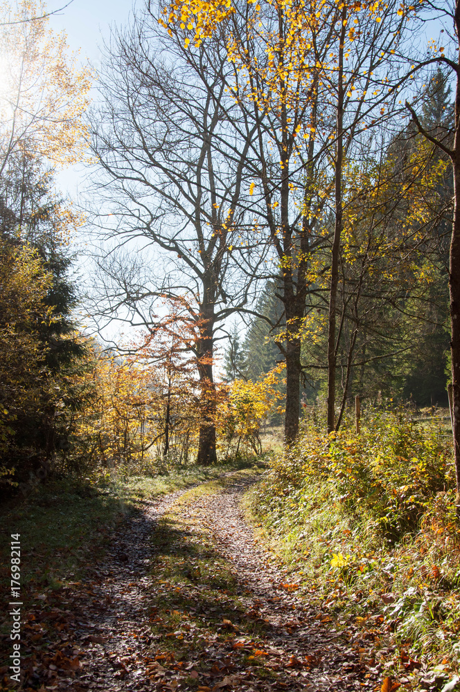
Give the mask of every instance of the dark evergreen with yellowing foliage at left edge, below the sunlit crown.
<path id="1" fill-rule="evenodd" d="M 79 224 L 71 207 L 55 197 L 48 168 L 36 157 L 12 154 L 0 176 L 2 266 L 10 275 L 2 282 L 1 399 L 10 416 L 7 456 L 19 477 L 49 464 L 67 444 L 62 408 L 64 402 L 69 410 L 79 405 L 78 392 L 67 386 L 83 354 L 72 319 L 77 296 L 68 245 Z"/>

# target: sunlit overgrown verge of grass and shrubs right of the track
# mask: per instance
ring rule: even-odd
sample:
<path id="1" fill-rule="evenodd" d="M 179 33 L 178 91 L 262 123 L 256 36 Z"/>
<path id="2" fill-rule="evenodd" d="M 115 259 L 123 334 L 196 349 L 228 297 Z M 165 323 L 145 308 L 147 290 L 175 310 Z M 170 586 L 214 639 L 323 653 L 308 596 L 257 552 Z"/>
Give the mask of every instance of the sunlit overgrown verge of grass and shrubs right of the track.
<path id="1" fill-rule="evenodd" d="M 369 666 L 380 664 L 408 690 L 457 689 L 460 525 L 452 486 L 439 425 L 388 414 L 360 435 L 328 437 L 309 426 L 247 500 L 292 580 L 339 628 L 353 623 Z"/>

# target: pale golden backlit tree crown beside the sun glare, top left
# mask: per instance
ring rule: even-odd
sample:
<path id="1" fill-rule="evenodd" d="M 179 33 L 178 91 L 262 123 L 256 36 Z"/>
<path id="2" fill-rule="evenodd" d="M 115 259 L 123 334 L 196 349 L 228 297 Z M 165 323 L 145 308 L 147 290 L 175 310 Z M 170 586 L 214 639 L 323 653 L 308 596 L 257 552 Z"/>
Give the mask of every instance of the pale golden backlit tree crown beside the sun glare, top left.
<path id="1" fill-rule="evenodd" d="M 86 146 L 91 74 L 69 55 L 65 36 L 48 28 L 42 1 L 12 1 L 1 11 L 0 174 L 24 150 L 75 163 Z"/>

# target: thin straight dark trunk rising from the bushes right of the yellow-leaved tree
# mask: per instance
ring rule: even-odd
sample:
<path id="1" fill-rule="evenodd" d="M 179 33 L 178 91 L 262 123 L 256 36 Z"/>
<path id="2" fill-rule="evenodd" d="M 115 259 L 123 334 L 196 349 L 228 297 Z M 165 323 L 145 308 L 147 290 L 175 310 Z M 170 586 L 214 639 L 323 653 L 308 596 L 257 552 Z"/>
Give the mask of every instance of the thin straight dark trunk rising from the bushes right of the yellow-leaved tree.
<path id="1" fill-rule="evenodd" d="M 337 72 L 337 150 L 335 156 L 335 227 L 330 266 L 329 320 L 328 320 L 328 432 L 335 430 L 335 369 L 337 349 L 335 322 L 337 313 L 337 286 L 339 285 L 340 237 L 342 235 L 342 165 L 344 157 L 344 40 L 346 6 L 342 9 L 342 31 L 339 45 Z"/>

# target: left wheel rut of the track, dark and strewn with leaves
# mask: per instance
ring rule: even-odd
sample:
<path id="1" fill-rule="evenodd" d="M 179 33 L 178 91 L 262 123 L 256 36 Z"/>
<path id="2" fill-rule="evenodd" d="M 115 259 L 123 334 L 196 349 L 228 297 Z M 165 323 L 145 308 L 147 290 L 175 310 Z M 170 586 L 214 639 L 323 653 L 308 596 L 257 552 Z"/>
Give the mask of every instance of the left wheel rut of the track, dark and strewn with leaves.
<path id="1" fill-rule="evenodd" d="M 112 548 L 103 563 L 92 570 L 95 606 L 92 612 L 87 598 L 82 596 L 76 637 L 85 647 L 85 655 L 80 658 L 81 673 L 76 680 L 68 680 L 67 689 L 73 692 L 152 689 L 152 682 L 145 678 L 141 666 L 150 644 L 148 600 L 154 588 L 149 539 L 159 518 L 185 492 L 170 493 L 153 502 L 144 501 L 141 511 L 127 518 L 112 534 Z"/>

